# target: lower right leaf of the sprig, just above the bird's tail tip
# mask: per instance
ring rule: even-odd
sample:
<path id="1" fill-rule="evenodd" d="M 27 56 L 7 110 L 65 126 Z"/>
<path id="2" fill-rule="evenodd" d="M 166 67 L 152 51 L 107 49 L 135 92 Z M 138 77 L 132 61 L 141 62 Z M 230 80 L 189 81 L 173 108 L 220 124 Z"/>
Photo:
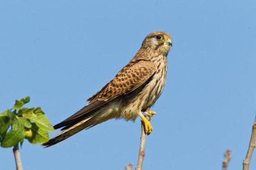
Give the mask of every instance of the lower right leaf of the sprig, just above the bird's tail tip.
<path id="1" fill-rule="evenodd" d="M 41 129 L 38 127 L 35 123 L 32 123 L 32 136 L 31 138 L 28 138 L 28 141 L 30 143 L 44 143 L 49 141 L 49 134 L 47 131 L 44 131 L 44 129 Z"/>

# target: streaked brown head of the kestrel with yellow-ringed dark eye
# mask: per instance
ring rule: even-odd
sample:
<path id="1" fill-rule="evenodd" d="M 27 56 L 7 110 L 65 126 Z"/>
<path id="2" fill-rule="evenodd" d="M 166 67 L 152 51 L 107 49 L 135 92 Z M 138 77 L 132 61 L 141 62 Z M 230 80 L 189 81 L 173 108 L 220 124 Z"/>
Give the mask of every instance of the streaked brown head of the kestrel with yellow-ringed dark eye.
<path id="1" fill-rule="evenodd" d="M 172 46 L 172 36 L 168 32 L 155 31 L 144 39 L 141 47 L 150 50 L 156 50 L 157 52 L 167 53 Z"/>

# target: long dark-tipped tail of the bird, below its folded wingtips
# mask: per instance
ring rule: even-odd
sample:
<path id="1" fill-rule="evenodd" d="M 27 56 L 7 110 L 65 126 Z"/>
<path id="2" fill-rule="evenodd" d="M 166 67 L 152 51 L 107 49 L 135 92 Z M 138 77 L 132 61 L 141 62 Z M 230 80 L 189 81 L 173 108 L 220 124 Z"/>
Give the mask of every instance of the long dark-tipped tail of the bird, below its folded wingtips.
<path id="1" fill-rule="evenodd" d="M 74 122 L 72 125 L 68 125 L 68 128 L 65 128 L 65 131 L 61 132 L 46 143 L 42 143 L 42 146 L 47 148 L 49 146 L 55 145 L 56 143 L 69 138 L 70 136 L 82 131 L 83 129 L 89 129 L 90 127 L 109 120 L 110 118 L 114 118 L 113 114 L 111 113 L 112 110 L 108 110 L 106 112 L 97 111 L 96 113 L 92 113 L 90 114 L 90 117 L 86 117 L 80 121 Z"/>

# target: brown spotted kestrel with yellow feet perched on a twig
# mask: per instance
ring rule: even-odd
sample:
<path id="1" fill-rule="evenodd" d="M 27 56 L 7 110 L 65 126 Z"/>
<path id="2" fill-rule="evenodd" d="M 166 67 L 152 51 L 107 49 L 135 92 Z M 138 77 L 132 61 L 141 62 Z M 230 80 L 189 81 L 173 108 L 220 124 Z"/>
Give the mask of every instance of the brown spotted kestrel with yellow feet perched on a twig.
<path id="1" fill-rule="evenodd" d="M 143 113 L 163 92 L 166 81 L 167 55 L 172 36 L 155 31 L 143 40 L 140 50 L 113 80 L 88 99 L 89 103 L 74 115 L 54 125 L 61 133 L 42 146 L 49 147 L 83 129 L 88 129 L 111 118 L 135 120 L 141 118 L 145 133 L 153 131 Z M 149 111 L 149 114 L 154 114 Z"/>

